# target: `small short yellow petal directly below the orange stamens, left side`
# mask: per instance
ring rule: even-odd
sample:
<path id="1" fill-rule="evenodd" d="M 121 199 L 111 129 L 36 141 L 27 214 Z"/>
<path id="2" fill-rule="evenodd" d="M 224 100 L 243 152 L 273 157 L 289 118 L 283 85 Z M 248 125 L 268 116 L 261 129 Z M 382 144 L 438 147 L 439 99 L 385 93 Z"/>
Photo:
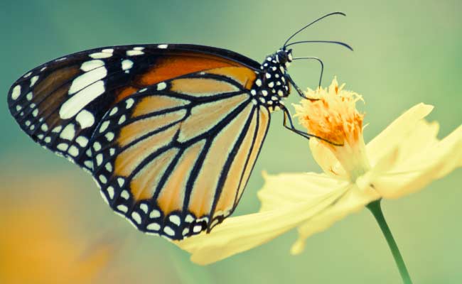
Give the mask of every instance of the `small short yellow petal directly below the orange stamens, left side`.
<path id="1" fill-rule="evenodd" d="M 334 178 L 348 178 L 345 169 L 329 148 L 315 138 L 310 139 L 309 145 L 314 160 L 316 160 L 316 163 L 323 169 L 324 173 Z"/>

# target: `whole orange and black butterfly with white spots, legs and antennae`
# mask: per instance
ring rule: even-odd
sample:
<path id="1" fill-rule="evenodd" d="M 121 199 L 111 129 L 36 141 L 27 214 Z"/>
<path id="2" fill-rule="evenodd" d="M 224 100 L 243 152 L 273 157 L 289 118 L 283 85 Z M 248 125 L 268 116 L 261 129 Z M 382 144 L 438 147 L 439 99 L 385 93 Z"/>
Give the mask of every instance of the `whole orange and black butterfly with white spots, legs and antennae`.
<path id="1" fill-rule="evenodd" d="M 334 14 L 345 16 L 326 16 Z M 316 21 L 262 64 L 184 44 L 67 55 L 18 79 L 9 110 L 33 141 L 89 171 L 104 200 L 137 229 L 176 240 L 209 232 L 237 206 L 270 111 L 282 109 L 284 126 L 310 137 L 281 102 L 290 85 L 303 97 L 286 70 L 305 58 L 292 58 L 288 47 L 350 48 L 289 43 Z"/>

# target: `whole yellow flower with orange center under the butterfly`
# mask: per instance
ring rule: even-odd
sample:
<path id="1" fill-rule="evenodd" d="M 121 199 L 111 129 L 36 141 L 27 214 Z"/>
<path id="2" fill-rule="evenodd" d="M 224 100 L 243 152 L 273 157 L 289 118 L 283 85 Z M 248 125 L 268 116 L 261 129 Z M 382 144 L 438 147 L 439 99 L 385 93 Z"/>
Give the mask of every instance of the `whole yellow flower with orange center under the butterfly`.
<path id="1" fill-rule="evenodd" d="M 441 141 L 438 124 L 424 120 L 433 107 L 417 104 L 365 145 L 362 119 L 355 108 L 361 97 L 333 80 L 327 89 L 308 89 L 296 106 L 300 123 L 312 138 L 310 148 L 324 173 L 267 175 L 258 196 L 258 213 L 226 219 L 210 234 L 178 246 L 195 263 L 208 264 L 264 244 L 295 227 L 301 253 L 305 239 L 347 214 L 381 198 L 397 198 L 422 189 L 462 166 L 462 127 Z M 326 141 L 330 141 L 328 143 Z"/>

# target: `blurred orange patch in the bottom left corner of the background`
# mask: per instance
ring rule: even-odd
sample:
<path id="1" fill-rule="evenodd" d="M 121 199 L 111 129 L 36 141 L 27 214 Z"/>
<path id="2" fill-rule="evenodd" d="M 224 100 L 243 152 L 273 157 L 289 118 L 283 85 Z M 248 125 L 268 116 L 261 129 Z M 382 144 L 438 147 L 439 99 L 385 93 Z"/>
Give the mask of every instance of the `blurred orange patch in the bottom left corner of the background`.
<path id="1" fill-rule="evenodd" d="M 9 185 L 0 189 L 0 283 L 102 283 L 97 279 L 114 244 L 92 246 L 85 234 L 75 234 L 78 220 L 69 218 L 62 203 L 68 198 L 57 193 L 72 190 L 69 182 L 55 176 L 35 176 L 32 184 L 1 180 Z M 45 190 L 50 187 L 56 190 Z"/>

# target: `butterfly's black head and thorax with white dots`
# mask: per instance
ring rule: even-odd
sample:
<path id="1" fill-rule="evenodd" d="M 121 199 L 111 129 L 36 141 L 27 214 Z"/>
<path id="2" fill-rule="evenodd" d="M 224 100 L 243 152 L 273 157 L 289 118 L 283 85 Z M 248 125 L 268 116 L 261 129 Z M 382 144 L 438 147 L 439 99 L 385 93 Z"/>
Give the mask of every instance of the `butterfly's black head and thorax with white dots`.
<path id="1" fill-rule="evenodd" d="M 263 104 L 270 110 L 279 109 L 281 99 L 289 96 L 290 85 L 286 78 L 287 67 L 291 62 L 291 50 L 278 50 L 267 56 L 252 86 L 254 104 Z"/>

